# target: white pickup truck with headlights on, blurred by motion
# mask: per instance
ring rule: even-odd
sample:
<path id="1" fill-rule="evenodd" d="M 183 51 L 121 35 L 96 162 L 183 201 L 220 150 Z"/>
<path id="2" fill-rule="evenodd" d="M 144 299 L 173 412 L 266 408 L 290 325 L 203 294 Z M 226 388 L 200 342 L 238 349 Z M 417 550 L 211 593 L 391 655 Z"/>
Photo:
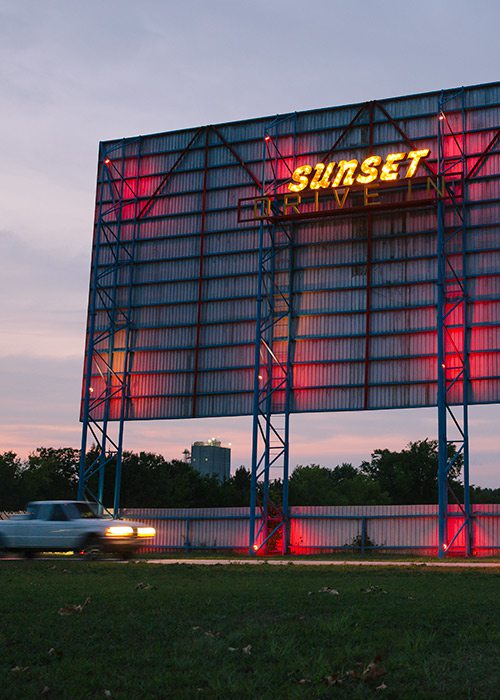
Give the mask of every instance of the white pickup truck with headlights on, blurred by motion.
<path id="1" fill-rule="evenodd" d="M 91 559 L 113 552 L 127 558 L 156 534 L 142 523 L 101 517 L 97 505 L 85 501 L 33 501 L 26 510 L 0 520 L 0 551 L 74 551 Z"/>

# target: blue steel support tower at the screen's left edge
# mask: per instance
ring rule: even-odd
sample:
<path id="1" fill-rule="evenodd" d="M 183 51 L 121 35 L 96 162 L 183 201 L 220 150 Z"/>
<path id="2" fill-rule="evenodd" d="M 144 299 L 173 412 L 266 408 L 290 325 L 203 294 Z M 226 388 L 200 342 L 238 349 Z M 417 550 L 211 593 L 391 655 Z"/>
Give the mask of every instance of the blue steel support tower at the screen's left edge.
<path id="1" fill-rule="evenodd" d="M 124 145 L 122 144 L 122 149 Z M 96 221 L 95 247 L 92 261 L 92 284 L 89 300 L 89 325 L 87 350 L 85 358 L 85 387 L 84 410 L 82 426 L 82 447 L 80 455 L 80 478 L 78 497 L 90 497 L 103 508 L 104 478 L 106 466 L 115 460 L 117 477 L 115 479 L 114 509 L 115 515 L 119 508 L 119 485 L 121 453 L 123 446 L 123 427 L 128 397 L 128 379 L 130 362 L 130 324 L 131 324 L 131 290 L 129 288 L 129 303 L 126 308 L 117 306 L 117 290 L 120 271 L 127 270 L 132 275 L 133 254 L 128 244 L 121 240 L 121 216 L 124 206 L 124 152 L 122 151 L 121 166 L 117 167 L 109 155 L 114 155 L 120 145 L 115 146 L 112 154 L 100 154 L 100 196 Z M 112 172 L 111 172 L 112 171 Z M 113 174 L 113 177 L 112 177 Z M 118 178 L 120 187 L 116 188 L 114 178 Z M 109 190 L 109 206 L 104 207 L 104 185 Z M 127 184 L 132 192 L 130 186 Z M 136 195 L 132 192 L 134 199 Z M 102 259 L 103 244 L 108 245 L 107 260 Z M 132 278 L 129 277 L 130 284 Z M 96 317 L 101 312 L 102 328 L 97 328 Z M 117 365 L 116 335 L 120 331 L 125 334 L 123 348 L 123 367 Z M 121 352 L 122 349 L 119 350 Z M 99 384 L 103 384 L 100 392 L 91 387 L 92 373 L 95 369 L 100 374 Z M 102 380 L 102 381 L 101 381 Z M 115 420 L 110 415 L 111 401 L 116 400 L 120 407 L 118 415 L 118 437 L 114 439 L 109 433 L 109 422 Z M 95 440 L 97 455 L 94 461 L 86 464 L 86 448 L 88 433 Z M 98 476 L 97 493 L 89 486 L 90 479 Z"/>

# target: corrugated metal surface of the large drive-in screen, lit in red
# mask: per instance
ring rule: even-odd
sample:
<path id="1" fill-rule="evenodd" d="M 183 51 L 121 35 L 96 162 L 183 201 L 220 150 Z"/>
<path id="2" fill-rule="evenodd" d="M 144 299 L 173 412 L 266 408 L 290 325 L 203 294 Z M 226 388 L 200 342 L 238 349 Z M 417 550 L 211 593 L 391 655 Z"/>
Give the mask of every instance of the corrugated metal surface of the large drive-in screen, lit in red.
<path id="1" fill-rule="evenodd" d="M 273 131 L 282 158 L 264 164 L 271 118 L 103 144 L 111 164 L 99 165 L 96 217 L 113 235 L 96 227 L 100 254 L 97 260 L 94 253 L 93 268 L 106 290 L 97 302 L 96 334 L 108 323 L 107 298 L 115 300 L 118 317 L 120 309 L 130 312 L 129 419 L 252 412 L 259 223 L 238 218 L 240 200 L 261 195 L 263 165 L 267 184 L 277 173 L 285 191 L 288 168 L 320 161 L 336 141 L 329 156 L 336 163 L 407 153 L 410 143 L 429 148 L 429 172 L 435 172 L 438 96 L 284 115 Z M 499 128 L 499 84 L 466 88 L 465 103 L 467 163 L 474 169 Z M 460 128 L 460 114 L 449 119 Z M 452 140 L 446 147 L 456 150 Z M 473 403 L 500 400 L 497 146 L 480 165 L 467 187 Z M 435 197 L 435 189 L 424 177 L 417 190 L 380 184 L 370 196 L 385 198 L 382 209 L 362 188 L 344 188 L 340 197 L 348 203 L 337 197 L 335 216 L 294 223 L 293 411 L 436 403 L 436 210 L 434 204 L 406 206 Z M 334 201 L 331 191 L 322 196 Z M 340 211 L 349 202 L 359 210 Z M 455 224 L 448 217 L 448 225 Z M 116 275 L 110 272 L 114 236 L 129 242 L 133 255 L 133 265 L 125 257 Z M 459 244 L 457 237 L 457 252 Z M 288 255 L 276 258 L 278 283 L 291 263 Z M 458 329 L 463 319 L 450 318 Z M 284 333 L 286 324 L 277 329 L 278 340 Z M 99 344 L 114 371 L 123 371 L 125 343 L 117 334 L 111 353 Z M 94 363 L 96 388 L 102 372 Z M 457 386 L 451 401 L 461 400 L 460 391 Z M 274 401 L 279 410 L 280 392 Z M 117 411 L 112 402 L 112 419 Z"/>

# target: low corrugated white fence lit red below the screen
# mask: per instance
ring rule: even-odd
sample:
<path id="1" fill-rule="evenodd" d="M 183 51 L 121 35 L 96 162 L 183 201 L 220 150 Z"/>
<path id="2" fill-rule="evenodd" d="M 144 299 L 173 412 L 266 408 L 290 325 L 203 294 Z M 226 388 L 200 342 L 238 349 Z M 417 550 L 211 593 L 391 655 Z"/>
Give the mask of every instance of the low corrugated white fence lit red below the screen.
<path id="1" fill-rule="evenodd" d="M 128 508 L 128 518 L 156 528 L 144 551 L 248 549 L 248 508 Z M 295 506 L 290 513 L 290 553 L 314 554 L 343 549 L 406 551 L 436 554 L 437 505 L 412 506 Z M 463 523 L 451 507 L 447 541 Z M 451 554 L 465 551 L 465 532 L 453 542 Z M 500 551 L 500 506 L 477 505 L 473 510 L 473 552 L 492 556 Z"/>

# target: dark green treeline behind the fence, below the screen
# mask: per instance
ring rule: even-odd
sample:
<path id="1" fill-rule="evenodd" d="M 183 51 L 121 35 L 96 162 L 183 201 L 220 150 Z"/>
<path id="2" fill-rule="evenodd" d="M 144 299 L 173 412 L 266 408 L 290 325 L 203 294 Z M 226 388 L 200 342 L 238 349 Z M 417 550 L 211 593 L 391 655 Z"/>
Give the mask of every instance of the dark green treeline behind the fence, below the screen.
<path id="1" fill-rule="evenodd" d="M 450 451 L 453 453 L 453 446 Z M 86 457 L 89 464 L 95 452 Z M 75 498 L 79 450 L 41 447 L 23 460 L 14 452 L 0 453 L 0 510 L 23 509 L 28 501 Z M 355 467 L 341 464 L 326 468 L 299 465 L 289 479 L 291 505 L 383 505 L 436 503 L 437 442 L 420 440 L 400 452 L 375 450 L 371 459 Z M 453 492 L 463 497 L 462 461 L 457 457 L 450 473 Z M 104 503 L 113 503 L 114 465 L 107 466 Z M 269 485 L 270 498 L 282 500 L 282 482 Z M 90 481 L 97 493 L 97 475 Z M 262 487 L 259 486 L 259 489 Z M 473 503 L 500 503 L 500 488 L 473 486 Z M 239 467 L 227 481 L 202 476 L 190 464 L 167 461 L 151 452 L 125 452 L 120 503 L 123 508 L 201 508 L 247 506 L 250 472 Z"/>

